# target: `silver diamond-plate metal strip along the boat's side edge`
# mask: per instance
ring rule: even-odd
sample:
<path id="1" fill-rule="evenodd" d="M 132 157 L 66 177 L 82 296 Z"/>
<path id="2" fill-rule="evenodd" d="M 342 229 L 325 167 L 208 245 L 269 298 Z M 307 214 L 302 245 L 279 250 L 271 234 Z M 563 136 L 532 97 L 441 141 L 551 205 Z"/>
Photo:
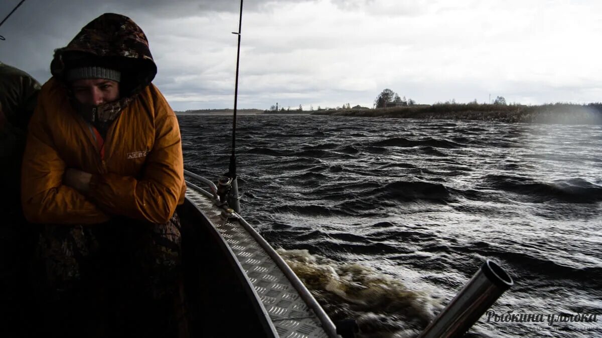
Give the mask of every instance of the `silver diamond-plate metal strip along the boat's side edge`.
<path id="1" fill-rule="evenodd" d="M 186 197 L 202 210 L 235 253 L 280 337 L 329 337 L 284 272 L 237 220 L 225 220 L 222 209 L 199 191 L 188 188 Z"/>

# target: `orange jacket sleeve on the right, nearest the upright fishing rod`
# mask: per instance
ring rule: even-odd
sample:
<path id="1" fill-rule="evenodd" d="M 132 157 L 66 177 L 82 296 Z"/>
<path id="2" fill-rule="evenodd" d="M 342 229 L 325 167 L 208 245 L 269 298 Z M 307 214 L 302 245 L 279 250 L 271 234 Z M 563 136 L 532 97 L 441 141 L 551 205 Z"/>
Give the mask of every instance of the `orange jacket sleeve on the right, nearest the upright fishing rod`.
<path id="1" fill-rule="evenodd" d="M 184 160 L 178 118 L 158 95 L 155 143 L 140 179 L 114 173 L 94 175 L 89 195 L 101 209 L 111 213 L 164 224 L 181 203 Z"/>

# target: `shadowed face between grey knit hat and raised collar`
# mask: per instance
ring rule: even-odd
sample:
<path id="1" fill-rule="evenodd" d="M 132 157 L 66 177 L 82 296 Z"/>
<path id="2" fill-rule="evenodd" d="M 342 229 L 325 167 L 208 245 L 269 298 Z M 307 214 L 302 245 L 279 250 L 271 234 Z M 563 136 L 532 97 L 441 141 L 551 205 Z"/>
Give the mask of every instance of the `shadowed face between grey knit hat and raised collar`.
<path id="1" fill-rule="evenodd" d="M 84 79 L 72 82 L 79 103 L 98 106 L 119 100 L 119 82 L 107 79 Z"/>

